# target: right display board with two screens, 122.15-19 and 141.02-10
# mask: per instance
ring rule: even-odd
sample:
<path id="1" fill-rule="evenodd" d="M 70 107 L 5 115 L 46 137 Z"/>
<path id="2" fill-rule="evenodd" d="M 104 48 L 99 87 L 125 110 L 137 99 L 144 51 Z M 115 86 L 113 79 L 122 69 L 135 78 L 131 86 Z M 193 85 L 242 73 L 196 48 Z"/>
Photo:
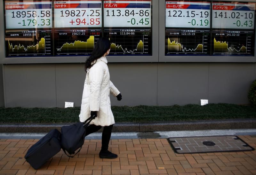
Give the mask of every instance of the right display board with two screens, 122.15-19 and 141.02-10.
<path id="1" fill-rule="evenodd" d="M 165 55 L 254 56 L 255 3 L 165 1 Z"/>

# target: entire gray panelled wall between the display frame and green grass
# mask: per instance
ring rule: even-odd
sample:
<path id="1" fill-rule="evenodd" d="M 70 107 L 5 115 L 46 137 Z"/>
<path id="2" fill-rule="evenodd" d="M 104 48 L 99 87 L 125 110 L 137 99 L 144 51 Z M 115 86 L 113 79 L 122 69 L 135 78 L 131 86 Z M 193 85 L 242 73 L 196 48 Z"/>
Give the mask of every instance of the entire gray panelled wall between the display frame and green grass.
<path id="1" fill-rule="evenodd" d="M 248 104 L 256 77 L 255 63 L 108 63 L 108 68 L 123 96 L 122 101 L 111 97 L 112 106 L 200 104 L 200 99 Z M 84 63 L 7 64 L 3 69 L 5 107 L 81 105 Z"/>

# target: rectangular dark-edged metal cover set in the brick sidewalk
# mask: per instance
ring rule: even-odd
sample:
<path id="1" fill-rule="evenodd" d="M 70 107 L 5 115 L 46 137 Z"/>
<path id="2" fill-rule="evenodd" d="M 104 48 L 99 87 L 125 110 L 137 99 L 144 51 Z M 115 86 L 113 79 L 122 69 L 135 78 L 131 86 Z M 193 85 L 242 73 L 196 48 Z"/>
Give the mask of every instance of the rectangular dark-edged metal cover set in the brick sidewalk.
<path id="1" fill-rule="evenodd" d="M 252 151 L 250 145 L 235 135 L 168 138 L 176 153 Z"/>

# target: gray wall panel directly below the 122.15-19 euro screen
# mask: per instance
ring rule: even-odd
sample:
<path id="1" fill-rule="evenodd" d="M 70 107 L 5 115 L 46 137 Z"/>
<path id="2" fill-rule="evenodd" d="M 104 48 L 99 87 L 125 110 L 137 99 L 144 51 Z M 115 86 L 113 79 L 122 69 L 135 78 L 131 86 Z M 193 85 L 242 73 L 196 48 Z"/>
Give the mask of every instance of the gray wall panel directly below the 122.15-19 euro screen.
<path id="1" fill-rule="evenodd" d="M 200 104 L 207 99 L 208 63 L 159 63 L 158 105 Z"/>

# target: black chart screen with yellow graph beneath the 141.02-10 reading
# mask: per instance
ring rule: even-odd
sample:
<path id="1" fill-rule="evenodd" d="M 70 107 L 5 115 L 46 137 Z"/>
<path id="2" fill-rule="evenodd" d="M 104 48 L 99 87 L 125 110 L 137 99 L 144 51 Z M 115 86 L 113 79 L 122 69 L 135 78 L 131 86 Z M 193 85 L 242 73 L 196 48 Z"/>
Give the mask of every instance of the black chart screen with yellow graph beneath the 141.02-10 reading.
<path id="1" fill-rule="evenodd" d="M 213 55 L 254 56 L 254 31 L 212 31 Z"/>

